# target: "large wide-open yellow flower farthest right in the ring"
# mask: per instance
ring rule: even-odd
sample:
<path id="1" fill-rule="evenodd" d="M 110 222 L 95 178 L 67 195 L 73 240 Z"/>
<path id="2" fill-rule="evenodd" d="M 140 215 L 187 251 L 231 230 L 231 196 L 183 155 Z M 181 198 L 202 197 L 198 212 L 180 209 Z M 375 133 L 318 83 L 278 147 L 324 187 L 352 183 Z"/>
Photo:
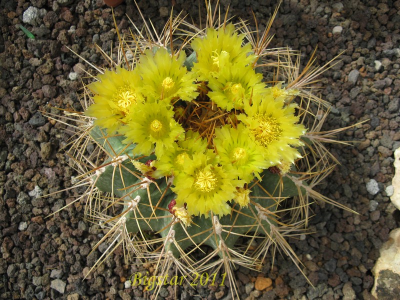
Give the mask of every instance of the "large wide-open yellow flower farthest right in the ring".
<path id="1" fill-rule="evenodd" d="M 284 101 L 275 100 L 270 93 L 259 100 L 253 99 L 251 106 L 245 104 L 246 114 L 237 116 L 248 127 L 255 142 L 264 148 L 269 166 L 281 160 L 292 163 L 301 157 L 292 147 L 302 145 L 299 137 L 305 133 L 304 126 L 297 123 L 298 116 L 294 115 L 296 107 L 294 103 L 285 105 Z"/>

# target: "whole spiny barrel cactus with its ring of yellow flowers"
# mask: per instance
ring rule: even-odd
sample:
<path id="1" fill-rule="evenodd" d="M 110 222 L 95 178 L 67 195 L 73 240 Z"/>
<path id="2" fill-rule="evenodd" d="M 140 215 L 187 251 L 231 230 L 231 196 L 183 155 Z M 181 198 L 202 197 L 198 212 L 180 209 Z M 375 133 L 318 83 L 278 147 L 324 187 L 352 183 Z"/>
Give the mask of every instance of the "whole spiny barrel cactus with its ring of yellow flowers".
<path id="1" fill-rule="evenodd" d="M 86 217 L 106 228 L 97 245 L 154 263 L 153 276 L 220 271 L 238 297 L 237 265 L 260 269 L 276 247 L 299 265 L 285 237 L 306 228 L 311 201 L 340 206 L 314 190 L 340 129 L 320 131 L 329 105 L 312 84 L 326 66 L 300 71 L 297 52 L 268 48 L 276 10 L 259 34 L 207 9 L 205 30 L 178 16 L 159 40 L 118 33 L 84 111 L 66 112 L 68 153 Z"/>

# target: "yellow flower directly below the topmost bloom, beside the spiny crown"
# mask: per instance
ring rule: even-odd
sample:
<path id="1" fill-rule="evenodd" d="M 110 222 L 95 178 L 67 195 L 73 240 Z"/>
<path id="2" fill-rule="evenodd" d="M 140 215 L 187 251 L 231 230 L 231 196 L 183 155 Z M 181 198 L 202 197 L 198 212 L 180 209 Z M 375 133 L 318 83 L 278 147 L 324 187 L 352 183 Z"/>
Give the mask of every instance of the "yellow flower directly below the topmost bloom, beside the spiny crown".
<path id="1" fill-rule="evenodd" d="M 209 78 L 208 87 L 211 91 L 208 96 L 223 109 L 242 109 L 243 101 L 264 91 L 265 84 L 261 79 L 262 74 L 255 73 L 251 66 L 235 63 L 220 70 L 218 77 Z"/>

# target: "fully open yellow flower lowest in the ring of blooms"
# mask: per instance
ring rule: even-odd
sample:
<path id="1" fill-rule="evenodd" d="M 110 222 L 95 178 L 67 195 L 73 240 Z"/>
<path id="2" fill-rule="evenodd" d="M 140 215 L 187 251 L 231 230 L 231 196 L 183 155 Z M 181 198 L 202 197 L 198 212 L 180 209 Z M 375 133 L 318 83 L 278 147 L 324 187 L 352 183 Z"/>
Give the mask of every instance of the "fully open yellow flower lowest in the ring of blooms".
<path id="1" fill-rule="evenodd" d="M 207 217 L 212 211 L 222 216 L 230 213 L 227 201 L 233 198 L 237 182 L 234 174 L 218 165 L 215 154 L 207 151 L 193 154 L 192 163 L 174 178 L 171 189 L 176 193 L 176 204 L 186 203 L 189 214 Z"/>

